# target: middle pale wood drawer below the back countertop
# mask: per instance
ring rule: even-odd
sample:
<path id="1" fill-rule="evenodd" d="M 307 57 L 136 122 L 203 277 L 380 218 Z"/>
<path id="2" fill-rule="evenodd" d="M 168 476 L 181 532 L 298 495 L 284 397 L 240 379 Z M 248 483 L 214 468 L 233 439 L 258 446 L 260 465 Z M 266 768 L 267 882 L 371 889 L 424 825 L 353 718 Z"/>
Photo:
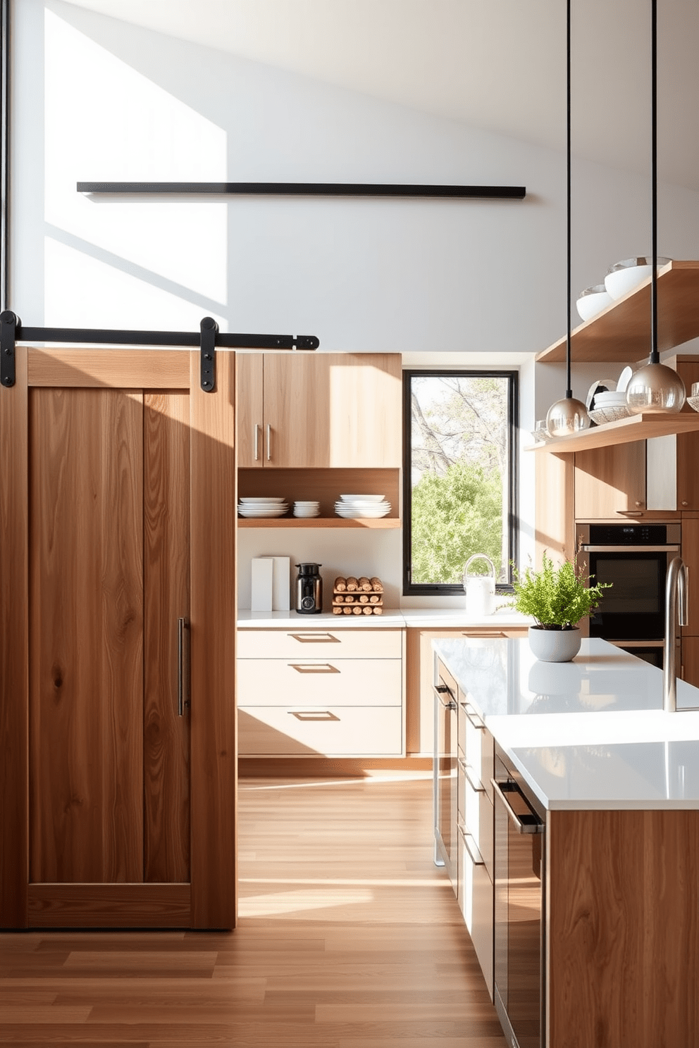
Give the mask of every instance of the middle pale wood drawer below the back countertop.
<path id="1" fill-rule="evenodd" d="M 399 706 L 402 662 L 375 659 L 239 658 L 239 706 Z"/>

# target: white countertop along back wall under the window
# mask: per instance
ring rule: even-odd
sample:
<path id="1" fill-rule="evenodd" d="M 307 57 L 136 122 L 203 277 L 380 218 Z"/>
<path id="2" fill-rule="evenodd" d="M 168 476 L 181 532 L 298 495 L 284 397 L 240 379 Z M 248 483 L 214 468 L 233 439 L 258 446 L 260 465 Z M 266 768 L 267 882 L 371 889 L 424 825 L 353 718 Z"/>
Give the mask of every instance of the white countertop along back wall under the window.
<path id="1" fill-rule="evenodd" d="M 435 629 L 507 629 L 512 626 L 529 626 L 533 619 L 509 609 L 496 612 L 494 615 L 466 615 L 465 610 L 451 608 L 385 608 L 383 615 L 333 615 L 323 612 L 320 615 L 300 615 L 296 611 L 238 611 L 239 629 L 288 629 L 307 626 L 315 629 L 318 626 L 327 628 L 330 623 L 340 629 L 345 627 L 406 627 L 420 630 Z"/>

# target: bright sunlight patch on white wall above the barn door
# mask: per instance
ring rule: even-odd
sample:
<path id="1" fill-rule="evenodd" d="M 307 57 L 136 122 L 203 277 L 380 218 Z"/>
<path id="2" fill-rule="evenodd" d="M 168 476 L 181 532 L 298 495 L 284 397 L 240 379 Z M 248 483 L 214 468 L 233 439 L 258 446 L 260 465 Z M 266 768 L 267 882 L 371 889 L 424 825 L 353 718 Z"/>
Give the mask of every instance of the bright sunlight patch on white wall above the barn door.
<path id="1" fill-rule="evenodd" d="M 45 158 L 46 222 L 72 239 L 75 252 L 84 241 L 97 260 L 103 253 L 104 263 L 72 260 L 63 271 L 47 258 L 46 324 L 65 321 L 54 306 L 67 300 L 71 326 L 134 327 L 132 299 L 122 299 L 125 286 L 134 294 L 134 283 L 141 285 L 138 311 L 150 302 L 145 315 L 151 328 L 177 327 L 170 312 L 177 288 L 163 288 L 167 282 L 181 286 L 183 298 L 190 291 L 210 300 L 207 308 L 197 308 L 198 319 L 213 312 L 211 302 L 225 304 L 224 202 L 102 199 L 75 191 L 78 181 L 90 180 L 225 180 L 225 131 L 50 10 L 45 12 Z M 118 271 L 129 264 L 140 267 L 137 278 Z M 79 293 L 77 267 L 89 281 L 78 285 Z M 180 306 L 189 312 L 187 302 Z"/>

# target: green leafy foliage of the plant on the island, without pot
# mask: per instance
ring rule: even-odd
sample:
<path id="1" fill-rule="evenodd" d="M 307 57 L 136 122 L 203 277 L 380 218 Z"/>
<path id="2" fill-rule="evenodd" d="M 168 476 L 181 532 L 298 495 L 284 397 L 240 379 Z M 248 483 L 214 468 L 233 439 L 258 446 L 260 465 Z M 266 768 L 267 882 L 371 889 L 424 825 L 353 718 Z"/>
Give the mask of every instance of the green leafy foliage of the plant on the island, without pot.
<path id="1" fill-rule="evenodd" d="M 526 568 L 514 570 L 515 599 L 512 607 L 523 615 L 531 615 L 543 630 L 572 630 L 581 618 L 589 615 L 599 604 L 602 591 L 611 583 L 587 585 L 592 577 L 586 575 L 577 558 L 564 561 L 555 567 L 546 553 L 542 556 L 541 571 Z"/>

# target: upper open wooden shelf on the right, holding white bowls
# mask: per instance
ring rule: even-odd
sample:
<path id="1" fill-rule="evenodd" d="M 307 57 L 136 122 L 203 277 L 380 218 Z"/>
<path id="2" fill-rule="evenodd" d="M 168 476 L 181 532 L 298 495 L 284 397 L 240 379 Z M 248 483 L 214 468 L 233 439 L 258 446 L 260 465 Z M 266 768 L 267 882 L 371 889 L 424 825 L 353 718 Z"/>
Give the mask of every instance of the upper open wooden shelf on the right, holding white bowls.
<path id="1" fill-rule="evenodd" d="M 698 336 L 699 262 L 670 262 L 658 274 L 658 349 L 663 352 Z M 650 277 L 626 298 L 576 327 L 570 341 L 571 359 L 575 362 L 632 364 L 648 356 L 650 350 Z M 537 356 L 545 364 L 565 358 L 565 336 Z"/>

